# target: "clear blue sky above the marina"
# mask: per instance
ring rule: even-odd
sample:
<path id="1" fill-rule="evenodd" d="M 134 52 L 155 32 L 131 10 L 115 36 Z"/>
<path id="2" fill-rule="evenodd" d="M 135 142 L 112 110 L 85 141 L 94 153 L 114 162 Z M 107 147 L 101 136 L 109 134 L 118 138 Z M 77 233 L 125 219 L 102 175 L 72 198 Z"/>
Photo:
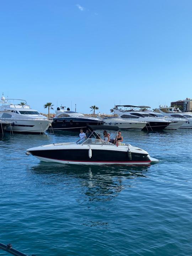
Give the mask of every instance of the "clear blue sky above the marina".
<path id="1" fill-rule="evenodd" d="M 90 113 L 192 98 L 192 1 L 0 3 L 0 93 Z"/>

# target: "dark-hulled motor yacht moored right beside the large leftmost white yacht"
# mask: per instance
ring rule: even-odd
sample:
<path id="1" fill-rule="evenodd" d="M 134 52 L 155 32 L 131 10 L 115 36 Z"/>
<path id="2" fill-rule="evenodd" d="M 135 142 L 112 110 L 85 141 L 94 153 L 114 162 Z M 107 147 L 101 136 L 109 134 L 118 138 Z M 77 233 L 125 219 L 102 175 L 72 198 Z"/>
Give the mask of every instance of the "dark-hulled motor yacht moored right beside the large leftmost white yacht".
<path id="1" fill-rule="evenodd" d="M 85 116 L 84 114 L 70 111 L 60 110 L 55 111 L 56 116 L 53 118 L 51 129 L 79 131 L 80 128 L 86 128 L 87 125 L 101 125 L 104 121 L 100 118 Z"/>

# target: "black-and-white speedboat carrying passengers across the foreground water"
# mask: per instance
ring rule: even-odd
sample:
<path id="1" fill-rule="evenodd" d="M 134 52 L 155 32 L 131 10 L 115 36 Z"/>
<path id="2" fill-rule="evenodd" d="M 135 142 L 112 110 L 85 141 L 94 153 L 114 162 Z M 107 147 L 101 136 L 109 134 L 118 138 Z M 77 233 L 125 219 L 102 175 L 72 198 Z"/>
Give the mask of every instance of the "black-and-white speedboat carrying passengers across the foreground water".
<path id="1" fill-rule="evenodd" d="M 78 142 L 54 143 L 27 149 L 27 155 L 31 154 L 41 161 L 58 162 L 63 164 L 150 164 L 159 160 L 151 158 L 143 149 L 130 144 L 121 143 L 114 145 L 101 139 L 97 130 L 107 130 L 108 126 L 87 126 L 91 135 Z M 110 130 L 118 131 L 117 126 L 111 126 Z"/>

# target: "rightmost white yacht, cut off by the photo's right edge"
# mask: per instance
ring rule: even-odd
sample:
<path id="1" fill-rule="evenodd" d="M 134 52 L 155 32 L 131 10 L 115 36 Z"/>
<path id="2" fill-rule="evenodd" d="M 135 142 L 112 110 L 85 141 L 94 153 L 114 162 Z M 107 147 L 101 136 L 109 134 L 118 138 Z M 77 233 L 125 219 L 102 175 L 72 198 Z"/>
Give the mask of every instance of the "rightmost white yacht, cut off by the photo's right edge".
<path id="1" fill-rule="evenodd" d="M 185 121 L 180 128 L 188 128 L 192 129 L 192 116 L 191 114 L 183 113 L 179 108 L 175 107 L 167 107 L 167 106 L 159 106 L 159 108 L 155 108 L 155 112 L 158 112 L 165 117 L 171 117 L 173 120 L 175 118 L 180 118 Z"/>

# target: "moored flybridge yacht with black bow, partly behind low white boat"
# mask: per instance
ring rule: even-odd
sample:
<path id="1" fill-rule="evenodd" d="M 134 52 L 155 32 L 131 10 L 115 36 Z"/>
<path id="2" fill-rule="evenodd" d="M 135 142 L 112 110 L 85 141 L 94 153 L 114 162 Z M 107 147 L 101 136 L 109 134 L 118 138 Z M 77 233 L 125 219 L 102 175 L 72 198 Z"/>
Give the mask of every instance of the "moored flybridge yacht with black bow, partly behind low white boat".
<path id="1" fill-rule="evenodd" d="M 146 126 L 142 130 L 154 131 L 165 129 L 170 121 L 165 118 L 156 118 L 149 114 L 148 106 L 116 105 L 113 108 L 115 114 L 126 120 L 145 121 Z M 146 110 L 146 111 L 144 111 Z"/>

